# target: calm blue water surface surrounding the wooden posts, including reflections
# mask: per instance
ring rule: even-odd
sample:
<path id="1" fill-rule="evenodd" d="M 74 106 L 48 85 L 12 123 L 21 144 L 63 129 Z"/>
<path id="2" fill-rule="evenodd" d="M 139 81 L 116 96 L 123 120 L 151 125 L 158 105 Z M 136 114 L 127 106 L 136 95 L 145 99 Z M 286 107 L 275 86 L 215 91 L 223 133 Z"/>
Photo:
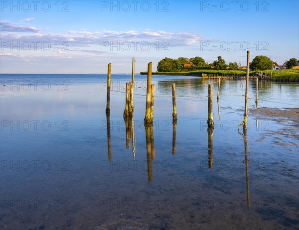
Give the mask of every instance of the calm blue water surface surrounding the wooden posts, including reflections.
<path id="1" fill-rule="evenodd" d="M 0 75 L 0 229 L 299 229 L 298 124 L 257 120 L 255 82 L 244 136 L 244 81 L 221 83 L 218 110 L 216 81 L 153 76 L 146 131 L 140 75 L 126 128 L 130 79 L 112 75 L 106 117 L 104 74 Z M 298 108 L 299 85 L 261 82 L 259 99 L 259 107 Z"/>

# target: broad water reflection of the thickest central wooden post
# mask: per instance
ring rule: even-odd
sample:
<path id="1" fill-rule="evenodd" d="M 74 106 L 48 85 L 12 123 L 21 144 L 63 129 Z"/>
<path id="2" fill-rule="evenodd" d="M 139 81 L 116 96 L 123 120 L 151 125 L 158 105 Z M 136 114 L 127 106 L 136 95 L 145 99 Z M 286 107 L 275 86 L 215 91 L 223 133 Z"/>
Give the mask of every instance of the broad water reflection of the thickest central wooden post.
<path id="1" fill-rule="evenodd" d="M 146 127 L 146 142 L 147 142 L 147 159 L 148 159 L 148 178 L 149 182 L 152 181 L 152 168 L 151 160 L 154 159 L 154 144 L 153 144 L 153 131 L 152 124 L 145 124 Z"/>

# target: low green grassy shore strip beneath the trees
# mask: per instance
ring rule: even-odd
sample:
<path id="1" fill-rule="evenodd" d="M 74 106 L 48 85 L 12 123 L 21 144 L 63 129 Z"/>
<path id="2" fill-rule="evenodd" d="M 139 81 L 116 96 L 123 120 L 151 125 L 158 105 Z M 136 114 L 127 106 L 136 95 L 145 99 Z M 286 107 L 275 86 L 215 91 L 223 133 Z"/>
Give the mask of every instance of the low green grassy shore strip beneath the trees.
<path id="1" fill-rule="evenodd" d="M 251 71 L 250 75 L 254 73 L 263 73 L 270 74 L 271 70 L 268 71 Z M 148 74 L 148 72 L 140 72 L 142 75 Z M 245 76 L 246 72 L 238 71 L 238 70 L 195 70 L 189 72 L 152 72 L 152 75 L 178 75 L 178 76 L 202 76 L 202 74 L 218 74 L 218 75 L 238 75 Z M 278 70 L 272 71 L 272 81 L 278 82 L 299 82 L 299 70 L 282 70 L 282 73 L 279 73 Z"/>

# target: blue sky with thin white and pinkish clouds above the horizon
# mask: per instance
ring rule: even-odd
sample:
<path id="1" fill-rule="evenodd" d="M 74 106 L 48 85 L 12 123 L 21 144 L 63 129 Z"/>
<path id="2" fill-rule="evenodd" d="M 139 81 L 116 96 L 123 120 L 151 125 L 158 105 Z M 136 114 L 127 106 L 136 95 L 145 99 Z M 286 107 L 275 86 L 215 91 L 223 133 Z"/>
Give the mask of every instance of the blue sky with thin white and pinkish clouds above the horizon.
<path id="1" fill-rule="evenodd" d="M 299 0 L 0 0 L 0 73 L 136 73 L 218 56 L 299 59 Z"/>

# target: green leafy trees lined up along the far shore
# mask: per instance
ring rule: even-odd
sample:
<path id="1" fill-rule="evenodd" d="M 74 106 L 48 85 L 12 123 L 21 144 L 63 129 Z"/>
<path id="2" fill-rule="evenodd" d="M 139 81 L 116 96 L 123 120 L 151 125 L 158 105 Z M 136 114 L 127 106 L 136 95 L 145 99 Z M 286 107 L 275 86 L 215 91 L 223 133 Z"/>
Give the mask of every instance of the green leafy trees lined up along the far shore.
<path id="1" fill-rule="evenodd" d="M 297 59 L 291 58 L 287 62 L 287 68 L 292 69 L 297 66 Z M 225 63 L 225 60 L 218 56 L 217 60 L 208 64 L 202 57 L 179 57 L 177 59 L 163 58 L 158 62 L 157 71 L 158 72 L 180 72 L 185 69 L 215 69 L 215 70 L 238 70 L 241 68 L 241 63 L 239 65 L 237 62 Z M 250 66 L 253 71 L 256 70 L 271 70 L 274 68 L 273 61 L 266 56 L 260 55 L 256 56 Z"/>

